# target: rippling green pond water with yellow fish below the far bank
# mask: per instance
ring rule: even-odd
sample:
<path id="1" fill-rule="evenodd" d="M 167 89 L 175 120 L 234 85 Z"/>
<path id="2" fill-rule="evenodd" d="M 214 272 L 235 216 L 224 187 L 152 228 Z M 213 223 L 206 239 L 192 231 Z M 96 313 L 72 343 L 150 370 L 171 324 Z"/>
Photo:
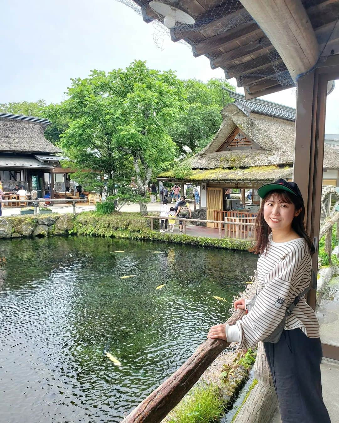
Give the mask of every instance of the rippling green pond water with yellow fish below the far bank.
<path id="1" fill-rule="evenodd" d="M 1 240 L 0 421 L 121 421 L 228 319 L 255 266 L 178 244 Z"/>

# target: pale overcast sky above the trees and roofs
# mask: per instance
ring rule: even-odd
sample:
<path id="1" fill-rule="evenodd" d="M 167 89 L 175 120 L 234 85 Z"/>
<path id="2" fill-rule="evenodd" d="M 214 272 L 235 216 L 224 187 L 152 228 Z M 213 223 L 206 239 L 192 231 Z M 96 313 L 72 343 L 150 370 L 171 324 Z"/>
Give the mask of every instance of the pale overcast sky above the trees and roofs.
<path id="1" fill-rule="evenodd" d="M 225 77 L 221 69 L 211 69 L 207 58 L 193 57 L 191 47 L 172 42 L 158 25 L 146 24 L 117 0 L 5 1 L 0 36 L 0 103 L 58 103 L 66 99 L 71 78 L 86 77 L 92 69 L 125 68 L 135 59 L 153 69 L 175 70 L 181 79 Z M 162 41 L 162 49 L 154 39 Z M 236 86 L 234 79 L 230 82 Z M 295 89 L 262 98 L 296 106 Z M 339 81 L 328 96 L 327 133 L 339 134 L 338 101 Z"/>

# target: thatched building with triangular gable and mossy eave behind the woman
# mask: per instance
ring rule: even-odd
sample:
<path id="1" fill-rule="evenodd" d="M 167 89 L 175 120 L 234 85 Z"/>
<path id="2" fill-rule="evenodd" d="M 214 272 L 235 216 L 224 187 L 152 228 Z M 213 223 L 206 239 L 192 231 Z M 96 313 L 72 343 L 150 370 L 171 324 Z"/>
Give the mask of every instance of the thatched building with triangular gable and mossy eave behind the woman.
<path id="1" fill-rule="evenodd" d="M 295 109 L 262 99 L 245 100 L 233 91 L 233 103 L 222 109 L 222 124 L 211 143 L 185 161 L 192 168 L 185 179 L 172 172 L 158 179 L 201 186 L 200 208 L 227 210 L 223 188 L 253 190 L 253 203 L 259 203 L 257 188 L 278 178 L 292 179 L 295 139 Z M 339 186 L 339 153 L 325 145 L 323 184 Z M 219 190 L 219 191 L 218 191 Z M 211 193 L 211 195 L 209 195 Z M 209 204 L 211 203 L 211 204 Z"/>

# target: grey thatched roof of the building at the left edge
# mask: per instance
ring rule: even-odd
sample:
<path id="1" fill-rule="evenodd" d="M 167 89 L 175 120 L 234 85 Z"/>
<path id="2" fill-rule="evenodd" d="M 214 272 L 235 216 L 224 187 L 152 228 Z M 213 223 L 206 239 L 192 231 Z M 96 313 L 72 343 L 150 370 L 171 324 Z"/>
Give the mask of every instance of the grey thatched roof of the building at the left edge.
<path id="1" fill-rule="evenodd" d="M 15 116 L 16 118 L 13 118 Z M 44 137 L 45 122 L 39 118 L 16 115 L 0 116 L 0 151 L 20 153 L 60 153 L 60 148 L 54 146 Z M 44 119 L 43 121 L 47 121 Z"/>

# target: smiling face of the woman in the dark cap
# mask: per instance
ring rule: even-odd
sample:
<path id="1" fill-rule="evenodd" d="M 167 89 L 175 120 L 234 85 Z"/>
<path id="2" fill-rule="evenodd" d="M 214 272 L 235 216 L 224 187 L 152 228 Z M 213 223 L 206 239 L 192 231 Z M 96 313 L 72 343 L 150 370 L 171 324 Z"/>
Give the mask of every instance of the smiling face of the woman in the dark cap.
<path id="1" fill-rule="evenodd" d="M 285 203 L 277 195 L 270 195 L 264 203 L 264 219 L 272 231 L 289 231 L 292 220 L 300 214 L 293 203 Z"/>

